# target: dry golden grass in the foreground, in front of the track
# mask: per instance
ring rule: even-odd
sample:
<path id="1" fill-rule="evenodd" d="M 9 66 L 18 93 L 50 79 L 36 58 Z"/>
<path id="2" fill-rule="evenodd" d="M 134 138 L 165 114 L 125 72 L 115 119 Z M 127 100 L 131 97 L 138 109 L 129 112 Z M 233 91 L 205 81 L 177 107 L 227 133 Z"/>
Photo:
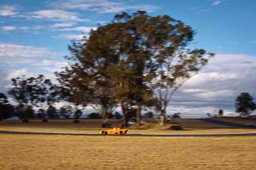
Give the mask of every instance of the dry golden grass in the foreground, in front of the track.
<path id="1" fill-rule="evenodd" d="M 0 169 L 255 169 L 255 140 L 0 134 Z"/>

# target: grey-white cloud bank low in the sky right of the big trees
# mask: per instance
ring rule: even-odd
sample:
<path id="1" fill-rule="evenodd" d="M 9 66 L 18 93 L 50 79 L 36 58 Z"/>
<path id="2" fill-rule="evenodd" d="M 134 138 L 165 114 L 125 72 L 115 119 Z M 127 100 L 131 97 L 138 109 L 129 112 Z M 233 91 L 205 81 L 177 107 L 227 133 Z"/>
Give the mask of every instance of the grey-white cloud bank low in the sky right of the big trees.
<path id="1" fill-rule="evenodd" d="M 217 54 L 201 71 L 173 96 L 171 106 L 186 108 L 222 108 L 234 111 L 234 101 L 241 92 L 256 97 L 256 56 Z"/>

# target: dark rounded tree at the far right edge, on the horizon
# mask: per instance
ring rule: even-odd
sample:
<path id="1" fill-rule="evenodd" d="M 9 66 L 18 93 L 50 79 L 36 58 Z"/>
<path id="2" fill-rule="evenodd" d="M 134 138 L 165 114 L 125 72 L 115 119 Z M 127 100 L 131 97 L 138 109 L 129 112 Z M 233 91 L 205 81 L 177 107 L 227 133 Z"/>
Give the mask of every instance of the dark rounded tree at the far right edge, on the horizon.
<path id="1" fill-rule="evenodd" d="M 243 116 L 249 116 L 256 109 L 256 104 L 253 102 L 253 97 L 248 92 L 241 93 L 236 98 L 236 112 Z"/>

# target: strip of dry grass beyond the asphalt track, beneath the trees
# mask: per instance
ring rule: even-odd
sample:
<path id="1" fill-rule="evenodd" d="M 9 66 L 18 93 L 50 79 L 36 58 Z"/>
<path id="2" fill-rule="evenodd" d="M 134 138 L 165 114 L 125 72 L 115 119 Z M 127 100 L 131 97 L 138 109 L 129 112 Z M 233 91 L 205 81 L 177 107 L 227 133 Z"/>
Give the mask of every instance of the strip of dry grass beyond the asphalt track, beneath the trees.
<path id="1" fill-rule="evenodd" d="M 150 120 L 148 121 L 150 122 Z M 185 131 L 171 131 L 168 129 L 170 124 L 163 127 L 156 122 L 143 125 L 140 129 L 129 128 L 129 134 L 200 134 L 200 133 L 239 133 L 239 132 L 256 132 L 256 129 L 239 129 L 233 127 L 226 127 L 223 125 L 216 125 L 201 120 L 193 119 L 177 119 L 184 127 Z M 100 128 L 101 120 L 81 120 L 81 123 L 74 124 L 72 120 L 50 120 L 49 122 L 42 122 L 41 120 L 31 120 L 31 122 L 22 123 L 20 121 L 6 121 L 0 122 L 0 131 L 29 131 L 29 132 L 70 132 L 70 133 L 97 133 Z M 111 120 L 113 126 L 118 127 L 120 122 Z"/>

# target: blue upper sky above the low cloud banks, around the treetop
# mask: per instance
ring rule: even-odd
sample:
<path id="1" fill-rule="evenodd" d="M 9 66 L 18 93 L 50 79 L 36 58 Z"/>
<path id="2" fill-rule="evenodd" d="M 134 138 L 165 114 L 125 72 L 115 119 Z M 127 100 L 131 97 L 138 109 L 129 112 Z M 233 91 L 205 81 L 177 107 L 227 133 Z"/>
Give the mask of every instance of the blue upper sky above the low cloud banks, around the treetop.
<path id="1" fill-rule="evenodd" d="M 82 31 L 60 31 L 63 27 L 52 29 L 53 24 L 69 23 L 73 24 L 72 27 L 96 27 L 97 23 L 111 21 L 113 15 L 123 11 L 122 9 L 129 12 L 145 9 L 151 11 L 151 15 L 167 14 L 191 25 L 197 32 L 193 47 L 205 48 L 211 52 L 256 55 L 253 49 L 256 45 L 256 1 L 253 0 L 75 1 L 77 4 L 92 4 L 91 8 L 81 9 L 79 6 L 68 8 L 68 4 L 65 6 L 67 2 L 1 0 L 1 6 L 12 6 L 15 8 L 13 12 L 17 13 L 1 16 L 1 27 L 16 27 L 13 31 L 9 31 L 12 27 L 7 27 L 7 31 L 1 30 L 1 42 L 44 46 L 52 51 L 65 52 L 69 39 L 54 37 L 80 34 Z M 100 6 L 100 2 L 108 4 Z M 119 4 L 117 8 L 120 8 L 116 9 L 115 3 L 111 4 L 113 2 Z M 106 11 L 100 11 L 102 8 L 106 8 Z M 47 11 L 54 13 L 56 10 L 61 10 L 59 16 L 47 14 Z M 72 13 L 73 16 L 61 18 L 65 13 Z M 77 20 L 71 17 L 77 17 Z M 24 30 L 24 27 L 34 28 Z"/>

